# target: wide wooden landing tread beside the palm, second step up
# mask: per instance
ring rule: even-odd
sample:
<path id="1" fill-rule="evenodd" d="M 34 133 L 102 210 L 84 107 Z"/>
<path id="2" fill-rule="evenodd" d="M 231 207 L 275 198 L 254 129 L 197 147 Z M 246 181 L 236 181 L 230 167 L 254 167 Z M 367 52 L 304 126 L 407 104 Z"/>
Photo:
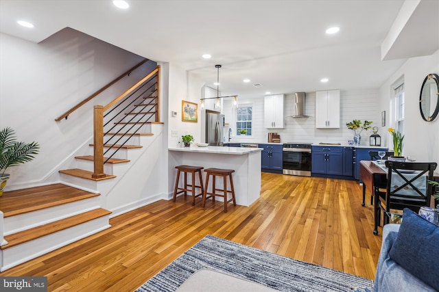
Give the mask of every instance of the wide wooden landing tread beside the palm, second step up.
<path id="1" fill-rule="evenodd" d="M 95 196 L 99 196 L 99 194 L 56 183 L 42 187 L 5 191 L 0 197 L 0 210 L 4 217 L 10 217 Z"/>

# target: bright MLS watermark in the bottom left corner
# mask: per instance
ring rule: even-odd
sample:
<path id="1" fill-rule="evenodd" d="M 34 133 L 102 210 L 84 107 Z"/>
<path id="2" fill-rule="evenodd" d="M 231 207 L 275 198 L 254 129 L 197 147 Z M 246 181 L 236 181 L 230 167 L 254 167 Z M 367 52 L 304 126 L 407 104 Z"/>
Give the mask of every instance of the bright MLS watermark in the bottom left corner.
<path id="1" fill-rule="evenodd" d="M 0 291 L 47 292 L 47 277 L 0 277 Z"/>

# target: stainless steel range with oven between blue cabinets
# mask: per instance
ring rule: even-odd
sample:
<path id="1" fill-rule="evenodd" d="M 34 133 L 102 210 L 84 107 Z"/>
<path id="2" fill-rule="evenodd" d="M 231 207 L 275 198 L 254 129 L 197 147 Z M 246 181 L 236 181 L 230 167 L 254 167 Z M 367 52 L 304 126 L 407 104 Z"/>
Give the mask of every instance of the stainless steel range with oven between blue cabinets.
<path id="1" fill-rule="evenodd" d="M 282 173 L 311 176 L 311 143 L 283 144 Z"/>

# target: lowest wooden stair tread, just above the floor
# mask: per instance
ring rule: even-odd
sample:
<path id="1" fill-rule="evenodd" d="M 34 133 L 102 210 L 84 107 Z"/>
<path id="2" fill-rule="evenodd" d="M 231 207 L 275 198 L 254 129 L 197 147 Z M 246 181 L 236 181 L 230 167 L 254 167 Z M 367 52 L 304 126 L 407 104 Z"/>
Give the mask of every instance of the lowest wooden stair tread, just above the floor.
<path id="1" fill-rule="evenodd" d="M 58 220 L 55 222 L 47 223 L 41 226 L 37 226 L 34 228 L 30 228 L 19 233 L 14 233 L 12 235 L 5 236 L 5 240 L 8 241 L 8 244 L 1 246 L 1 250 L 5 250 L 6 248 L 12 248 L 12 246 L 19 245 L 21 243 L 25 243 L 27 241 L 31 241 L 33 239 L 37 239 L 43 237 L 45 235 L 49 235 L 52 233 L 56 233 L 60 230 L 64 230 L 70 228 L 72 226 L 76 226 L 82 224 L 84 222 L 91 221 L 93 219 L 106 216 L 111 214 L 110 211 L 99 208 L 92 211 L 88 211 L 85 213 L 81 213 L 78 215 L 74 215 L 71 217 L 64 218 L 62 220 Z"/>

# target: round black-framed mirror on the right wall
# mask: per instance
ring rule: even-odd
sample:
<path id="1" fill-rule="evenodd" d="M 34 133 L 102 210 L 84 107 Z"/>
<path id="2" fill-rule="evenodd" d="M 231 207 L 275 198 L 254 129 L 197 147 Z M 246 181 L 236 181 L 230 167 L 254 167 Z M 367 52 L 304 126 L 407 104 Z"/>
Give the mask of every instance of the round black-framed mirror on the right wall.
<path id="1" fill-rule="evenodd" d="M 419 96 L 420 116 L 432 122 L 439 113 L 439 77 L 429 74 L 425 77 Z"/>

